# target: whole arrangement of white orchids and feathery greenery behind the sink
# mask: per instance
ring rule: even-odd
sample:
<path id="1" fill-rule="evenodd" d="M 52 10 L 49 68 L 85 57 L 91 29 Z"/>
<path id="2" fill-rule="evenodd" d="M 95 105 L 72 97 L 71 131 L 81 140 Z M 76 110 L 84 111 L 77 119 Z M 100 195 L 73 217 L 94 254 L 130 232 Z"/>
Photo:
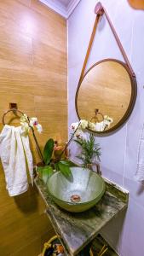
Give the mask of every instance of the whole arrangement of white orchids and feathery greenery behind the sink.
<path id="1" fill-rule="evenodd" d="M 105 124 L 102 124 L 103 127 L 106 127 L 112 123 L 112 119 L 108 116 L 105 116 Z M 93 134 L 89 136 L 89 139 L 86 138 L 85 131 L 90 129 L 92 131 L 97 131 L 94 123 L 87 120 L 80 120 L 79 122 L 72 123 L 72 137 L 66 143 L 65 148 L 61 148 L 58 145 L 55 145 L 55 142 L 52 138 L 48 140 L 41 151 L 38 143 L 37 137 L 35 136 L 34 129 L 37 129 L 37 132 L 42 133 L 43 128 L 37 121 L 36 117 L 29 118 L 26 114 L 23 114 L 20 118 L 21 130 L 27 135 L 32 129 L 32 134 L 37 145 L 37 152 L 41 158 L 41 162 L 37 164 L 37 172 L 40 177 L 43 178 L 43 182 L 47 183 L 49 176 L 51 176 L 55 171 L 60 171 L 67 178 L 71 178 L 71 166 L 75 166 L 70 160 L 67 160 L 66 149 L 69 144 L 74 139 L 75 143 L 78 143 L 82 152 L 78 155 L 78 158 L 83 160 L 83 166 L 88 167 L 88 165 L 94 160 L 100 160 L 101 152 L 99 144 L 95 143 L 95 137 Z M 104 128 L 105 129 L 105 128 Z M 57 151 L 57 152 L 56 152 Z M 59 152 L 58 152 L 59 151 Z"/>

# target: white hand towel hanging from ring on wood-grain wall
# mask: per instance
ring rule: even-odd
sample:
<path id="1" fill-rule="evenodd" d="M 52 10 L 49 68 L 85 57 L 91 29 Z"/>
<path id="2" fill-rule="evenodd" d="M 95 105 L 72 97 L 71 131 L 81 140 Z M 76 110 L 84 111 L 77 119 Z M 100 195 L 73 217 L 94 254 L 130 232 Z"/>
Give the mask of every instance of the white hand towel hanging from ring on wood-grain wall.
<path id="1" fill-rule="evenodd" d="M 20 126 L 4 125 L 0 134 L 0 157 L 9 195 L 26 192 L 28 189 L 26 166 L 33 184 L 33 163 L 29 138 L 23 134 Z"/>

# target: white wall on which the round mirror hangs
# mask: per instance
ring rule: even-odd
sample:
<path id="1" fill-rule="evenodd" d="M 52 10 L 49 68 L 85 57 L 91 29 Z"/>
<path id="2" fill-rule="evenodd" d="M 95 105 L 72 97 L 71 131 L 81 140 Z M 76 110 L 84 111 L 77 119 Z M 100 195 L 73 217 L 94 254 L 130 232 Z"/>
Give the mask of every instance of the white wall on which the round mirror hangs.
<path id="1" fill-rule="evenodd" d="M 69 125 L 78 120 L 75 92 L 95 20 L 98 1 L 81 0 L 68 20 L 68 101 Z M 144 11 L 132 9 L 127 0 L 101 0 L 135 71 L 138 95 L 135 108 L 123 128 L 108 137 L 97 137 L 101 143 L 101 170 L 104 177 L 130 191 L 126 215 L 121 214 L 102 230 L 112 247 L 122 256 L 144 255 L 144 185 L 135 181 L 137 148 L 144 124 Z M 123 61 L 112 32 L 102 18 L 88 67 L 95 61 L 113 57 Z M 87 67 L 87 68 L 88 68 Z M 71 147 L 72 157 L 77 152 Z"/>

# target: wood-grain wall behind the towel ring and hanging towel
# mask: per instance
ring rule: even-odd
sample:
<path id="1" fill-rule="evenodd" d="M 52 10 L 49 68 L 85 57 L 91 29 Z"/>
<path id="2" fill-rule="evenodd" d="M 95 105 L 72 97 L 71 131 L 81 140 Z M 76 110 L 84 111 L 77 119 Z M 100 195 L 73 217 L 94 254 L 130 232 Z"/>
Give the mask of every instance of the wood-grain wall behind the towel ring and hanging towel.
<path id="1" fill-rule="evenodd" d="M 0 1 L 0 131 L 9 102 L 37 116 L 43 135 L 60 143 L 67 139 L 66 20 L 38 0 Z M 6 122 L 20 125 L 9 113 Z M 37 161 L 31 137 L 32 154 Z M 54 235 L 36 188 L 9 197 L 0 164 L 0 255 L 37 256 Z"/>

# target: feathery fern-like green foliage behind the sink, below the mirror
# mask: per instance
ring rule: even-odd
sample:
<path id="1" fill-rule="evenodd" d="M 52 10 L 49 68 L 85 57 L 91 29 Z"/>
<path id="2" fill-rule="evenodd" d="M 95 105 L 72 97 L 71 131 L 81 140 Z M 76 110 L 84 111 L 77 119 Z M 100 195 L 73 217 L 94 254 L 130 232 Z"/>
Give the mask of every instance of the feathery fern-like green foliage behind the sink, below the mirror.
<path id="1" fill-rule="evenodd" d="M 78 154 L 78 159 L 83 161 L 83 166 L 92 164 L 93 160 L 99 160 L 101 157 L 101 148 L 99 143 L 95 143 L 95 136 L 93 134 L 89 135 L 89 139 L 78 138 L 74 140 L 75 143 L 82 148 L 81 154 Z"/>

